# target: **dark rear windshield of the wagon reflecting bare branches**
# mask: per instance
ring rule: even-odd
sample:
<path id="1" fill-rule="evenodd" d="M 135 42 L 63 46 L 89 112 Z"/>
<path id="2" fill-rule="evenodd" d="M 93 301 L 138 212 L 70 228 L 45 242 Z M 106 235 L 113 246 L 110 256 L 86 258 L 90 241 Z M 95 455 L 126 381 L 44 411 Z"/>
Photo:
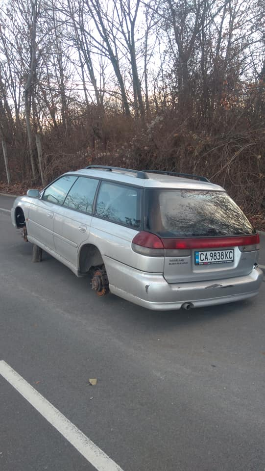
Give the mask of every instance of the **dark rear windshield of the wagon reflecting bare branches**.
<path id="1" fill-rule="evenodd" d="M 225 192 L 157 188 L 145 190 L 145 230 L 164 237 L 255 234 Z"/>

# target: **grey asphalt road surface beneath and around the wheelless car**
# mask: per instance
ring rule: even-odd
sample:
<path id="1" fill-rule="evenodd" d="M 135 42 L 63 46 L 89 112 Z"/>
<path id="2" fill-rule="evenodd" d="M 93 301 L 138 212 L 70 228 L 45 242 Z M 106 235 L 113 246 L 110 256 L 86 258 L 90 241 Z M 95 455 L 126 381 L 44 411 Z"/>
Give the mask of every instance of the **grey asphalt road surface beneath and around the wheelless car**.
<path id="1" fill-rule="evenodd" d="M 3 211 L 0 240 L 0 360 L 123 471 L 265 470 L 265 283 L 154 313 L 97 298 L 48 255 L 32 263 Z M 1 471 L 95 470 L 2 376 L 0 424 Z"/>

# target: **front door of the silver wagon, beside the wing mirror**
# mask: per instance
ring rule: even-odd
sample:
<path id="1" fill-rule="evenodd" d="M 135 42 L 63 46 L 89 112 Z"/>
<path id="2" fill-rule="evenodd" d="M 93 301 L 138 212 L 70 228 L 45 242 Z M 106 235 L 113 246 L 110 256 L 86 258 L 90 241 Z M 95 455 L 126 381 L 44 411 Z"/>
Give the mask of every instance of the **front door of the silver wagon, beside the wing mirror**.
<path id="1" fill-rule="evenodd" d="M 49 250 L 54 251 L 53 240 L 54 215 L 64 202 L 65 197 L 77 177 L 65 175 L 51 183 L 40 198 L 32 201 L 27 221 L 28 238 L 40 242 Z"/>

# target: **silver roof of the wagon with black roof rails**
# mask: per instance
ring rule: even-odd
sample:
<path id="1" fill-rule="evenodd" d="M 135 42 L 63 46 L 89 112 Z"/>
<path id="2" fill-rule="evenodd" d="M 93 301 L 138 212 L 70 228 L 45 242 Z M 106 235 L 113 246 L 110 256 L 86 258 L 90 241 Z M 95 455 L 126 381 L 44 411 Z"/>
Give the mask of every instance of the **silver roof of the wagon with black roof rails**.
<path id="1" fill-rule="evenodd" d="M 94 178 L 103 178 L 104 180 L 110 180 L 114 182 L 123 182 L 129 183 L 137 186 L 147 187 L 147 188 L 189 188 L 189 189 L 198 189 L 198 190 L 215 190 L 215 191 L 224 191 L 224 189 L 211 182 L 201 182 L 199 180 L 193 180 L 191 178 L 175 177 L 171 175 L 156 174 L 145 172 L 148 178 L 142 179 L 138 178 L 137 174 L 130 172 L 105 169 L 86 169 L 76 170 L 75 172 L 67 172 L 68 175 L 78 175 Z M 67 175 L 66 174 L 66 175 Z"/>

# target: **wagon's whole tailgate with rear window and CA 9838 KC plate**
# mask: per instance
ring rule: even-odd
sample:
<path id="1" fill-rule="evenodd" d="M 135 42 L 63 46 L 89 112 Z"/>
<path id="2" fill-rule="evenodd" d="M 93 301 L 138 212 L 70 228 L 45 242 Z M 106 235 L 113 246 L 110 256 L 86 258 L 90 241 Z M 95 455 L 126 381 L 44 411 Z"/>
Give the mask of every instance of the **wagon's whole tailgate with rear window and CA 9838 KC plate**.
<path id="1" fill-rule="evenodd" d="M 165 246 L 169 283 L 218 280 L 250 273 L 258 235 L 225 191 L 152 189 L 146 229 Z"/>

